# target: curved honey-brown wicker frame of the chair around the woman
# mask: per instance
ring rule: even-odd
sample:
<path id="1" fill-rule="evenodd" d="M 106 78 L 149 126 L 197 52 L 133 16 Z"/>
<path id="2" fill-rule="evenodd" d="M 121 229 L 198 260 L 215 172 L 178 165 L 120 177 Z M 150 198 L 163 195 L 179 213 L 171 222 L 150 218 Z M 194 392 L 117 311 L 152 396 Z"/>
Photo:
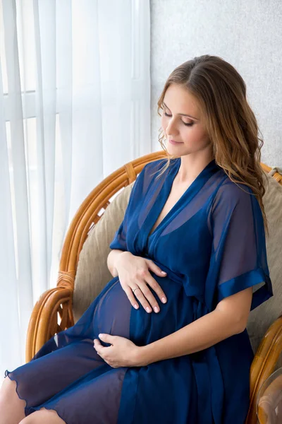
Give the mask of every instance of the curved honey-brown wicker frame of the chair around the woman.
<path id="1" fill-rule="evenodd" d="M 44 292 L 32 311 L 27 330 L 27 362 L 31 360 L 49 338 L 59 333 L 59 331 L 73 326 L 75 323 L 73 319 L 73 293 L 78 259 L 90 230 L 94 228 L 102 216 L 99 213 L 103 208 L 106 210 L 110 205 L 109 199 L 116 192 L 135 181 L 137 174 L 141 172 L 147 163 L 163 157 L 165 157 L 164 151 L 159 151 L 126 163 L 99 183 L 83 201 L 68 228 L 66 239 L 63 243 L 56 288 Z M 271 171 L 271 168 L 267 165 L 263 163 L 261 165 L 264 172 Z M 272 170 L 271 175 L 273 174 L 274 179 L 282 185 L 282 175 L 274 171 L 275 169 Z M 252 363 L 250 372 L 250 411 L 246 421 L 247 424 L 257 423 L 255 410 L 257 392 L 264 380 L 271 375 L 271 372 L 276 367 L 281 351 L 282 316 L 278 317 L 269 327 Z"/>

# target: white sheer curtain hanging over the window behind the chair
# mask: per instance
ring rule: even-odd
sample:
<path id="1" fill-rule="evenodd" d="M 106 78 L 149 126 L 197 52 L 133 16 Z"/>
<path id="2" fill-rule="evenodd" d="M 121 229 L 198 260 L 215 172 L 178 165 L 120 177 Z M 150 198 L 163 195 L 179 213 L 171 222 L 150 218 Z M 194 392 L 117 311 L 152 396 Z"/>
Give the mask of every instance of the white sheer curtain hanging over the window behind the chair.
<path id="1" fill-rule="evenodd" d="M 0 0 L 0 381 L 85 196 L 151 151 L 149 0 Z"/>

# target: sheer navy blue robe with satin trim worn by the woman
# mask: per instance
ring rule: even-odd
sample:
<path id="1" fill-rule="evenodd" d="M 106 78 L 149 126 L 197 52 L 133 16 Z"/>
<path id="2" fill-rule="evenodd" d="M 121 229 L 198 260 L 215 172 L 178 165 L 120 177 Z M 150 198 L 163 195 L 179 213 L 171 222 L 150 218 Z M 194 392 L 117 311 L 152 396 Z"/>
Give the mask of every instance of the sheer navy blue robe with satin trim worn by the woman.
<path id="1" fill-rule="evenodd" d="M 273 293 L 259 203 L 212 160 L 149 235 L 171 191 L 180 158 L 143 167 L 111 249 L 152 259 L 166 294 L 160 312 L 135 310 L 118 276 L 79 321 L 25 365 L 6 375 L 17 382 L 25 414 L 57 411 L 67 424 L 243 424 L 254 357 L 247 330 L 210 348 L 142 367 L 112 368 L 93 348 L 99 333 L 144 346 L 212 312 L 223 299 L 253 287 L 252 309 Z M 138 300 L 137 300 L 138 302 Z M 101 341 L 104 346 L 108 343 Z"/>

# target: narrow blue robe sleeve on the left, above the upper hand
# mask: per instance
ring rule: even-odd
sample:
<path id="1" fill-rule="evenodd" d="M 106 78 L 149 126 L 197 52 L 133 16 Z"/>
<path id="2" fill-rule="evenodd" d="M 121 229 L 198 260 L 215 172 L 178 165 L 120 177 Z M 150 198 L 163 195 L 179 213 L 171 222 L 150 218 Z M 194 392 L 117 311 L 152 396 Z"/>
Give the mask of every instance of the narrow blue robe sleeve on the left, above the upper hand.
<path id="1" fill-rule="evenodd" d="M 137 196 L 137 192 L 140 192 L 140 186 L 143 185 L 145 170 L 147 169 L 149 163 L 147 163 L 140 172 L 139 175 L 137 175 L 135 182 L 133 184 L 133 187 L 130 192 L 129 200 L 128 200 L 128 206 L 125 209 L 125 213 L 123 216 L 123 220 L 121 222 L 121 225 L 119 226 L 118 230 L 116 230 L 116 233 L 114 235 L 114 239 L 111 241 L 109 247 L 110 249 L 119 249 L 123 251 L 128 250 L 128 245 L 126 242 L 126 235 L 127 235 L 127 229 L 128 229 L 128 223 L 130 220 L 130 208 L 133 206 L 133 199 L 135 199 L 135 194 Z M 140 199 L 141 201 L 141 199 Z M 136 202 L 136 199 L 135 199 Z"/>

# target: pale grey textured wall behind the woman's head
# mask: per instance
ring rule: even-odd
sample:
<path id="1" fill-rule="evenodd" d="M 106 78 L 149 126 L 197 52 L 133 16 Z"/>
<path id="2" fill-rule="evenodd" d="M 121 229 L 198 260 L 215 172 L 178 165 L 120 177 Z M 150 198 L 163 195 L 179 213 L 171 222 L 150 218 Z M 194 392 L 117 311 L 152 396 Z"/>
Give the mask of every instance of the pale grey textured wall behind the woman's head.
<path id="1" fill-rule="evenodd" d="M 262 161 L 282 167 L 282 2 L 151 0 L 151 22 L 152 150 L 160 150 L 157 99 L 169 73 L 213 54 L 243 76 L 264 140 Z"/>

